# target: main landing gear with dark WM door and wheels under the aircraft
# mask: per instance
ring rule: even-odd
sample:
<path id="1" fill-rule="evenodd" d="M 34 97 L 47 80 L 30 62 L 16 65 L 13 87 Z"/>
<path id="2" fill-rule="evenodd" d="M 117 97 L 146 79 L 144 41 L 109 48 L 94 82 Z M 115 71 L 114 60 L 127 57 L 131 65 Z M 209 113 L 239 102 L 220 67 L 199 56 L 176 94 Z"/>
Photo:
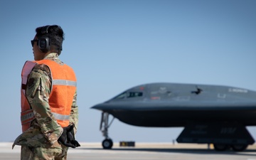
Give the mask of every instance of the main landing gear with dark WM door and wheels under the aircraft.
<path id="1" fill-rule="evenodd" d="M 178 136 L 179 143 L 213 144 L 216 151 L 244 151 L 255 140 L 245 125 L 235 122 L 191 123 Z"/>

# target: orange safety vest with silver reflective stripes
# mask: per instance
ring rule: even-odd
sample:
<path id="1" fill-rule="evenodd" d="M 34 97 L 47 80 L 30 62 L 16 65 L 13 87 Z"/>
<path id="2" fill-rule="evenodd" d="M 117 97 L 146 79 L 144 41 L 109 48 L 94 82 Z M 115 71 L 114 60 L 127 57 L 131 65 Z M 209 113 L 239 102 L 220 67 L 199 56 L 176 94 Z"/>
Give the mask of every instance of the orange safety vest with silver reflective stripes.
<path id="1" fill-rule="evenodd" d="M 36 64 L 45 64 L 50 68 L 51 77 L 53 78 L 48 100 L 50 112 L 61 127 L 67 127 L 76 90 L 76 78 L 73 69 L 68 65 L 60 65 L 53 60 L 26 61 L 21 72 L 22 132 L 31 127 L 31 122 L 36 118 L 25 95 L 28 76 Z"/>

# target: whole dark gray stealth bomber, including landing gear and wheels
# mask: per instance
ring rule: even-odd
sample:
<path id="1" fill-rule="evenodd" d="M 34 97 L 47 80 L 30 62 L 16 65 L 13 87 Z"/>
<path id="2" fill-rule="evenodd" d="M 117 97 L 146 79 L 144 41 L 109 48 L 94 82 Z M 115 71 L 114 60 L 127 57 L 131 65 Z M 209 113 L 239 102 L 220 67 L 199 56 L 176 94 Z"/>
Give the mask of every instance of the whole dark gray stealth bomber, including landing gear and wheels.
<path id="1" fill-rule="evenodd" d="M 184 127 L 178 143 L 213 144 L 217 151 L 242 151 L 255 142 L 246 126 L 256 125 L 256 92 L 238 87 L 151 83 L 92 108 L 102 111 L 104 149 L 113 144 L 109 114 L 134 126 Z"/>

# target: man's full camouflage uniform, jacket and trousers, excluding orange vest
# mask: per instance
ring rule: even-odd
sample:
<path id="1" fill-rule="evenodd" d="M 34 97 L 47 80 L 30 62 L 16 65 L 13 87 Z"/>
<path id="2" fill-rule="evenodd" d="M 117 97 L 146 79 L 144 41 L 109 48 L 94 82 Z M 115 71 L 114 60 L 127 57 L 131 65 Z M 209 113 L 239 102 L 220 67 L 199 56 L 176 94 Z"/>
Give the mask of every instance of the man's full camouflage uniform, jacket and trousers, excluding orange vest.
<path id="1" fill-rule="evenodd" d="M 50 53 L 44 59 L 54 60 L 63 64 L 58 58 L 58 53 Z M 28 99 L 36 119 L 31 127 L 19 135 L 14 145 L 21 145 L 21 159 L 67 159 L 68 147 L 60 145 L 58 138 L 63 128 L 57 123 L 50 112 L 48 99 L 51 90 L 52 78 L 47 65 L 35 65 L 31 71 L 27 85 L 26 98 Z M 78 106 L 76 103 L 77 92 L 73 97 L 70 113 L 70 124 L 73 124 L 74 132 L 78 127 Z"/>

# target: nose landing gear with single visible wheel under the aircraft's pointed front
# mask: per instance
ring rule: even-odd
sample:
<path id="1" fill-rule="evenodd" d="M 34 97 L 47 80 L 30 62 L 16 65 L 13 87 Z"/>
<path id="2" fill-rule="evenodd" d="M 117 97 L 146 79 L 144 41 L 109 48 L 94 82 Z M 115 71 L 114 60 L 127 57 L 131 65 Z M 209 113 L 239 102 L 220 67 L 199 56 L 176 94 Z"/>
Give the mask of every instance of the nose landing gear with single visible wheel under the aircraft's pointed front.
<path id="1" fill-rule="evenodd" d="M 112 149 L 112 146 L 113 146 L 112 139 L 110 139 L 110 137 L 108 137 L 107 129 L 112 124 L 114 117 L 109 124 L 109 115 L 110 114 L 107 112 L 102 112 L 102 118 L 100 121 L 100 131 L 102 132 L 102 135 L 105 137 L 105 139 L 102 141 L 103 149 Z"/>

